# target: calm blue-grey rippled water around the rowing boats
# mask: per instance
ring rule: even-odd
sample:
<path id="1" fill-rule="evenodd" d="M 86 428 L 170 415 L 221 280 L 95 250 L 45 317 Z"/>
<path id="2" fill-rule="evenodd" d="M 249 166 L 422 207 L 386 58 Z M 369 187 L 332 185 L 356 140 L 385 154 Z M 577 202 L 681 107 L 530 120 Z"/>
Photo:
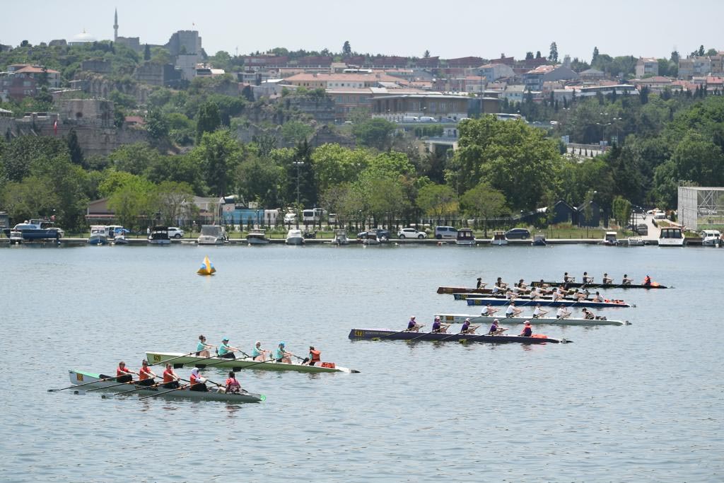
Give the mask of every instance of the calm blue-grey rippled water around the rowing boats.
<path id="1" fill-rule="evenodd" d="M 216 277 L 195 275 L 206 254 Z M 20 247 L 0 262 L 4 482 L 724 480 L 724 250 Z M 438 285 L 584 270 L 676 288 L 607 292 L 636 303 L 602 311 L 629 326 L 536 329 L 568 345 L 347 338 L 475 313 Z M 267 400 L 242 406 L 46 392 L 200 333 L 247 352 L 313 344 L 362 372 L 243 371 Z"/>

